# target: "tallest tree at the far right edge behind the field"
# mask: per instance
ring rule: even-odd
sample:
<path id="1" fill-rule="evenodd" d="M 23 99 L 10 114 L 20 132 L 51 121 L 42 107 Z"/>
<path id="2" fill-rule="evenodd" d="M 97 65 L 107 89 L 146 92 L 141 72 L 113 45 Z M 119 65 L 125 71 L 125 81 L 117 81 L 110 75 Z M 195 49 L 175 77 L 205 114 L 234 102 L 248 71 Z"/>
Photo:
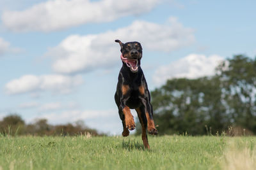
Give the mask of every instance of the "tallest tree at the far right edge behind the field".
<path id="1" fill-rule="evenodd" d="M 223 62 L 217 73 L 231 122 L 256 132 L 256 59 L 236 55 Z"/>

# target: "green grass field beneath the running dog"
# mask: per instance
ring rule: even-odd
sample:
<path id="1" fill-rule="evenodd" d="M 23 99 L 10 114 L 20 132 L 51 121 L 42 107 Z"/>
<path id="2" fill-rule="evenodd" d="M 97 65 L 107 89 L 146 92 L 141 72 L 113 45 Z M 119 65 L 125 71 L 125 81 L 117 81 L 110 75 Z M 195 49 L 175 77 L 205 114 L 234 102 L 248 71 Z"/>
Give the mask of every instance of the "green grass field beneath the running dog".
<path id="1" fill-rule="evenodd" d="M 255 169 L 255 137 L 1 137 L 0 169 Z"/>

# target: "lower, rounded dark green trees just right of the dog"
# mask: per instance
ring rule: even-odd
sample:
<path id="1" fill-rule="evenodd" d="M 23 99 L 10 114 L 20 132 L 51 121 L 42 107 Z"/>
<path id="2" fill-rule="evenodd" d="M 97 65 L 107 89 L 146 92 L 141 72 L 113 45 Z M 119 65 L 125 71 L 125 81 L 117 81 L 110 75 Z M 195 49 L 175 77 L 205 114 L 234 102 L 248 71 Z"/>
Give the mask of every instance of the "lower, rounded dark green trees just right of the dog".
<path id="1" fill-rule="evenodd" d="M 218 77 L 168 80 L 152 92 L 152 105 L 159 134 L 205 134 L 205 125 L 215 133 L 229 123 Z"/>

